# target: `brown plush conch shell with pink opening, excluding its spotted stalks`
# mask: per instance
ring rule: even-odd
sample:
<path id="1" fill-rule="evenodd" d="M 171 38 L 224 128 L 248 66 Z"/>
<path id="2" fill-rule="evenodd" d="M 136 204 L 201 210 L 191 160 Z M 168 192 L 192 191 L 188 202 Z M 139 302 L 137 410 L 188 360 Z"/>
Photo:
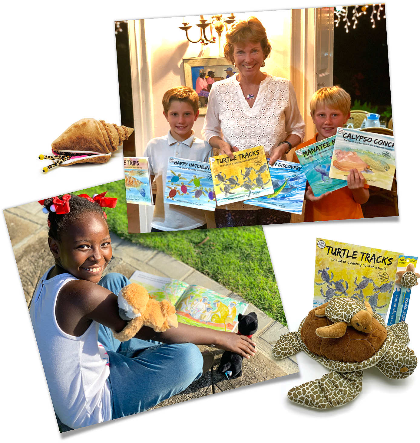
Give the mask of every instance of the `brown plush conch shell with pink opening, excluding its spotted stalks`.
<path id="1" fill-rule="evenodd" d="M 112 152 L 133 133 L 133 128 L 82 118 L 69 126 L 51 144 L 53 154 L 70 156 L 59 166 L 75 163 L 106 163 Z"/>

